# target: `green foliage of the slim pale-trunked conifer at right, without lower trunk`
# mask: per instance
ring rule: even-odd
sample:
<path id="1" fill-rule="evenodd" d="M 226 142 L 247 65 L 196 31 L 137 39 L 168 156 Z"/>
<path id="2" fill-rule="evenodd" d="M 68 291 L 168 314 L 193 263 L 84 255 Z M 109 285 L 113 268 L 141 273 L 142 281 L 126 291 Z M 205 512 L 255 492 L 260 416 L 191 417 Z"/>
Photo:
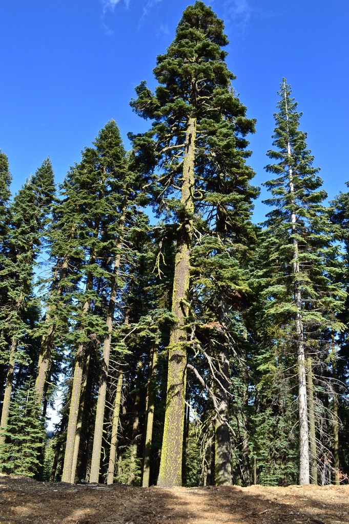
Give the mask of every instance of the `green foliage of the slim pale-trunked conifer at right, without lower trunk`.
<path id="1" fill-rule="evenodd" d="M 335 313 L 343 308 L 346 297 L 337 276 L 343 273 L 339 246 L 334 242 L 335 230 L 323 200 L 319 168 L 312 167 L 313 156 L 307 148 L 306 134 L 299 130 L 301 113 L 291 98 L 291 88 L 285 80 L 279 91 L 279 112 L 274 115 L 273 146 L 268 156 L 276 163 L 266 167 L 277 178 L 263 185 L 272 197 L 266 203 L 273 206 L 262 233 L 259 259 L 268 314 L 274 318 L 295 318 L 297 306 L 293 291 L 295 278 L 302 293 L 302 321 L 318 329 L 343 327 Z M 297 260 L 294 245 L 297 242 Z M 294 264 L 298 265 L 297 276 Z M 313 331 L 310 329 L 309 331 Z"/>

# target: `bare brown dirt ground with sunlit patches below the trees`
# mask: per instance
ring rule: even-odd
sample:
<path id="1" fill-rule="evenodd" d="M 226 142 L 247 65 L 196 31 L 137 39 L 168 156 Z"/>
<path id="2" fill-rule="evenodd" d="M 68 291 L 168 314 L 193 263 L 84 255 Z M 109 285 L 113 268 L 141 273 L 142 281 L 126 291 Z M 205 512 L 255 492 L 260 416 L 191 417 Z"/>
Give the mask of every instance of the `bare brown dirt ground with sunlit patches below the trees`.
<path id="1" fill-rule="evenodd" d="M 137 488 L 0 476 L 0 524 L 349 523 L 349 486 Z"/>

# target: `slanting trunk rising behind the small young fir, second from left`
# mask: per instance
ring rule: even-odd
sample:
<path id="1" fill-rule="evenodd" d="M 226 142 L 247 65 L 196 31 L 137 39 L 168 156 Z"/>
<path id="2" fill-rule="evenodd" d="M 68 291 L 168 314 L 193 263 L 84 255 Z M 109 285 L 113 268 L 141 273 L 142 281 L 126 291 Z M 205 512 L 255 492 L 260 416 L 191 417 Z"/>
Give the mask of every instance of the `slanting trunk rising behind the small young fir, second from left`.
<path id="1" fill-rule="evenodd" d="M 66 278 L 68 270 L 68 256 L 64 257 L 62 261 L 62 267 L 60 270 L 59 280 Z M 56 286 L 55 286 L 56 287 Z M 62 295 L 62 288 L 59 287 L 59 282 L 57 282 L 57 294 L 60 297 Z M 55 312 L 55 308 L 49 304 L 45 316 L 45 323 L 48 325 L 47 332 L 43 335 L 41 339 L 41 347 L 39 354 L 39 362 L 37 368 L 37 375 L 35 381 L 35 392 L 38 404 L 43 400 L 45 383 L 47 380 L 47 375 L 49 372 L 49 367 L 51 365 L 51 354 L 54 348 L 54 339 L 56 334 L 56 324 L 52 323 L 51 317 L 52 313 Z"/>

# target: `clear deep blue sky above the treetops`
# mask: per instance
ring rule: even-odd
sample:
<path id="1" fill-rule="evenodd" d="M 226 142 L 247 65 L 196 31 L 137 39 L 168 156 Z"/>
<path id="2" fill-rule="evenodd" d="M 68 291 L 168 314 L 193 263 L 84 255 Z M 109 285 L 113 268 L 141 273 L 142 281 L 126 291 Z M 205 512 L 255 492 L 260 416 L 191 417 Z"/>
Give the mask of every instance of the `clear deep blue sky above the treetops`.
<path id="1" fill-rule="evenodd" d="M 16 191 L 49 155 L 57 181 L 111 118 L 126 134 L 134 87 L 153 87 L 156 55 L 174 37 L 188 0 L 2 0 L 0 149 Z M 194 2 L 193 2 L 194 3 Z M 266 179 L 282 77 L 303 111 L 301 129 L 332 198 L 349 180 L 347 0 L 212 0 L 230 40 L 234 87 L 257 118 L 254 182 Z M 263 193 L 265 196 L 265 193 Z M 256 205 L 256 220 L 265 209 Z"/>

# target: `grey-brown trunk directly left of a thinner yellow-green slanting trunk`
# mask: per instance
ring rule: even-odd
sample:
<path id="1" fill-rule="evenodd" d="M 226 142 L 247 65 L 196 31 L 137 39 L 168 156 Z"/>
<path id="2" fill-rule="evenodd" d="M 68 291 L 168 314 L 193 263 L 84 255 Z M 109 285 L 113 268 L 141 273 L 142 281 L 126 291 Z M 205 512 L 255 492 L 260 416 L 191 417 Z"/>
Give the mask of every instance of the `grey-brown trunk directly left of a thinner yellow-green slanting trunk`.
<path id="1" fill-rule="evenodd" d="M 118 242 L 117 247 L 118 249 L 121 249 L 122 247 L 121 239 Z M 119 253 L 115 257 L 115 260 L 114 260 L 113 277 L 111 281 L 110 299 L 109 299 L 108 316 L 107 316 L 108 332 L 107 334 L 105 334 L 104 343 L 103 343 L 102 372 L 101 372 L 101 381 L 100 381 L 98 399 L 97 399 L 96 422 L 94 424 L 90 482 L 98 482 L 99 480 L 99 468 L 100 468 L 102 436 L 103 436 L 103 421 L 104 421 L 104 410 L 105 410 L 105 397 L 107 396 L 110 348 L 111 348 L 111 339 L 112 339 L 112 332 L 113 332 L 115 302 L 117 300 L 117 275 L 120 269 L 120 260 L 121 260 L 121 254 Z"/>

